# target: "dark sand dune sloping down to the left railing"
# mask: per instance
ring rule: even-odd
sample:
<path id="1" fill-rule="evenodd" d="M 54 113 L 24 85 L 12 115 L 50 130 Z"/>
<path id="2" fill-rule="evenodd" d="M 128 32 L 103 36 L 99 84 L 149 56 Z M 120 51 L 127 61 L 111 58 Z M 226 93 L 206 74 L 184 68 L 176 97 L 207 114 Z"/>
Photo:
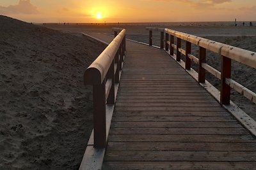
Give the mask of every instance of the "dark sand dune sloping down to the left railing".
<path id="1" fill-rule="evenodd" d="M 0 15 L 0 169 L 77 169 L 92 131 L 83 73 L 105 48 Z"/>

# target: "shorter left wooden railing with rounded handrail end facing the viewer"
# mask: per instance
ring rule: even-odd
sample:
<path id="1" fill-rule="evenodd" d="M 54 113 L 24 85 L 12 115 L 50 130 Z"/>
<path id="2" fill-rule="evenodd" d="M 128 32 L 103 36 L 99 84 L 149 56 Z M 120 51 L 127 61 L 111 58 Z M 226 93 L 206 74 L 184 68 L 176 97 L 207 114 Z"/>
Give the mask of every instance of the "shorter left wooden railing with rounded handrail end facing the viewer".
<path id="1" fill-rule="evenodd" d="M 114 29 L 115 39 L 86 69 L 84 84 L 93 85 L 93 146 L 104 148 L 107 140 L 106 107 L 116 100 L 116 85 L 125 55 L 125 29 Z M 117 31 L 120 31 L 117 34 Z"/>

